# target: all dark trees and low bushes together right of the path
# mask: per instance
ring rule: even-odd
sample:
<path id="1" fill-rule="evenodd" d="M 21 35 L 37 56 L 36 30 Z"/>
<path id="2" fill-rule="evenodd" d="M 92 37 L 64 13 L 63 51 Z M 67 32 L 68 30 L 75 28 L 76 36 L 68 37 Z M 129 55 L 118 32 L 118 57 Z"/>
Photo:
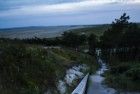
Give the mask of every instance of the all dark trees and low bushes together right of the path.
<path id="1" fill-rule="evenodd" d="M 106 82 L 117 89 L 140 91 L 140 28 L 125 13 L 101 37 L 109 64 Z"/>

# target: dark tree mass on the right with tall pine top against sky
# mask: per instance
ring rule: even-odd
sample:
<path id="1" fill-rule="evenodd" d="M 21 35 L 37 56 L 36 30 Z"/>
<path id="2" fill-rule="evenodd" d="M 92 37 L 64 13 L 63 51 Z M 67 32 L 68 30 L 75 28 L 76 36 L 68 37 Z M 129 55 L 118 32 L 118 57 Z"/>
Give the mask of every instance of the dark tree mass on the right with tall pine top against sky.
<path id="1" fill-rule="evenodd" d="M 101 47 L 107 56 L 115 55 L 122 61 L 140 59 L 140 28 L 129 19 L 124 13 L 101 37 Z"/>

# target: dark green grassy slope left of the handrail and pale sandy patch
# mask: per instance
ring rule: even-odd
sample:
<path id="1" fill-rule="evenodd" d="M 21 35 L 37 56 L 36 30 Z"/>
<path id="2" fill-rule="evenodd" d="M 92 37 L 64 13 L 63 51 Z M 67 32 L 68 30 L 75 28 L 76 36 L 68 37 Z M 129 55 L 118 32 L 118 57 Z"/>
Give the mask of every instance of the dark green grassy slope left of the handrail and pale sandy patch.
<path id="1" fill-rule="evenodd" d="M 91 71 L 97 68 L 95 58 L 75 50 L 0 39 L 0 93 L 43 94 L 51 90 L 59 94 L 58 80 L 63 79 L 68 68 L 78 64 L 92 67 Z"/>

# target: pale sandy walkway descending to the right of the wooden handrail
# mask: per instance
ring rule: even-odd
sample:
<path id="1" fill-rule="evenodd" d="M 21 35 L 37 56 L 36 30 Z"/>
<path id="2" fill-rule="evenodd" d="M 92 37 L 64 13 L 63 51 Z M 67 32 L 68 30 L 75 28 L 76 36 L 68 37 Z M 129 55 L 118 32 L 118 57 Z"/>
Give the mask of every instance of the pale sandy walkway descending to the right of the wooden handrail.
<path id="1" fill-rule="evenodd" d="M 98 63 L 100 63 L 102 67 L 96 72 L 96 74 L 89 76 L 87 94 L 115 94 L 116 91 L 114 89 L 107 88 L 102 84 L 104 77 L 101 75 L 107 70 L 107 68 L 101 59 L 98 60 Z"/>

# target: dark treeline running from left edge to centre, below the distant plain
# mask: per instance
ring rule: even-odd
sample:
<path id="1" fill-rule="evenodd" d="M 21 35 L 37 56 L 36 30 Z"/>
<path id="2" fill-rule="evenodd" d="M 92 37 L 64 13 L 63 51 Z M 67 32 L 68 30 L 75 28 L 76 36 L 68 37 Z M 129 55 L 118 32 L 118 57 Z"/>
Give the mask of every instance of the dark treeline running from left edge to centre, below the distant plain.
<path id="1" fill-rule="evenodd" d="M 93 33 L 90 35 L 86 34 L 77 34 L 76 32 L 64 32 L 61 37 L 55 38 L 26 38 L 26 39 L 9 39 L 9 38 L 0 38 L 0 41 L 3 43 L 15 43 L 15 44 L 35 44 L 43 46 L 63 46 L 71 49 L 79 50 L 80 46 L 88 46 L 89 54 L 95 55 L 95 49 L 97 47 L 97 36 Z"/>

